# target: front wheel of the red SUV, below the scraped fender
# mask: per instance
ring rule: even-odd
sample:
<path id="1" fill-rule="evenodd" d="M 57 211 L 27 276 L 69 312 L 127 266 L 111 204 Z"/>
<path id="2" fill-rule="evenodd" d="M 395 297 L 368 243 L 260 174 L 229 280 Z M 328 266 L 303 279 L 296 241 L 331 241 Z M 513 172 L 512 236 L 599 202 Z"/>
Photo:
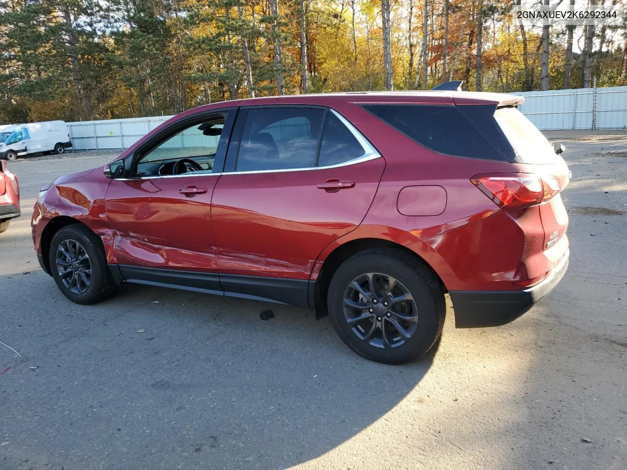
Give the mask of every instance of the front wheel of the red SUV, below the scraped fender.
<path id="1" fill-rule="evenodd" d="M 75 303 L 97 303 L 115 291 L 102 241 L 83 225 L 65 226 L 56 232 L 50 244 L 48 259 L 56 286 Z M 73 263 L 72 260 L 77 262 Z M 63 270 L 66 271 L 65 275 Z"/>

